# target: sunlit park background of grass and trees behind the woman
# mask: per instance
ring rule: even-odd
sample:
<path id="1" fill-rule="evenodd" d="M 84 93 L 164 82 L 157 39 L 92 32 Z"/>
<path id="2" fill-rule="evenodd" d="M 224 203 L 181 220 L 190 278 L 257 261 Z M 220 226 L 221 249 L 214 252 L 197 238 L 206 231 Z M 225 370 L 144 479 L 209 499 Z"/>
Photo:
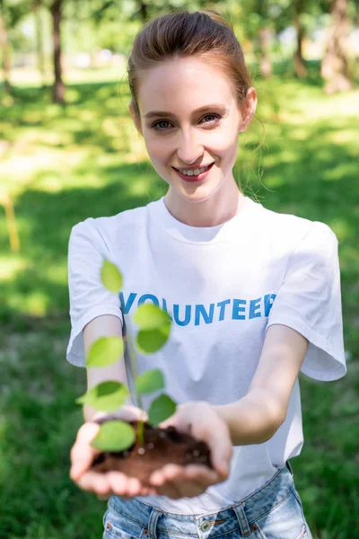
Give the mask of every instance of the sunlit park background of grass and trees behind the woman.
<path id="1" fill-rule="evenodd" d="M 314 539 L 359 537 L 357 0 L 0 0 L 0 539 L 98 539 L 107 502 L 69 479 L 85 370 L 66 362 L 71 227 L 161 197 L 128 112 L 143 23 L 212 8 L 241 41 L 258 119 L 236 180 L 337 234 L 347 375 L 302 373 L 292 460 Z M 258 148 L 260 143 L 263 144 Z"/>

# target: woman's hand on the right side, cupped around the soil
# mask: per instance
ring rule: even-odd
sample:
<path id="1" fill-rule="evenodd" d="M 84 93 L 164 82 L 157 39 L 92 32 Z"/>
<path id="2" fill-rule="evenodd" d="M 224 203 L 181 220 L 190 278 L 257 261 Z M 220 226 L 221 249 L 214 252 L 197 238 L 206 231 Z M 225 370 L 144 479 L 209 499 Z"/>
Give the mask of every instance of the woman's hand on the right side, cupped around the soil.
<path id="1" fill-rule="evenodd" d="M 180 404 L 171 418 L 158 425 L 161 429 L 170 426 L 205 441 L 211 450 L 215 470 L 203 464 L 166 464 L 150 476 L 150 484 L 158 494 L 172 499 L 192 498 L 228 478 L 232 458 L 230 430 L 211 404 L 202 401 Z"/>

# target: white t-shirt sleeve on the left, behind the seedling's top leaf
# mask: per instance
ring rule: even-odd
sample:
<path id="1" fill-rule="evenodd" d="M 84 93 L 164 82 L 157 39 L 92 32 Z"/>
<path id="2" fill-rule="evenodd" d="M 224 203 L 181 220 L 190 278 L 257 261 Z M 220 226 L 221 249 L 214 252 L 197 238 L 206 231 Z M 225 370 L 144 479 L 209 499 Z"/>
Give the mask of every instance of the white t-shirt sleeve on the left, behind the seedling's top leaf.
<path id="1" fill-rule="evenodd" d="M 118 316 L 123 323 L 119 296 L 101 281 L 104 259 L 111 261 L 109 248 L 94 219 L 74 225 L 68 243 L 68 291 L 71 334 L 66 359 L 76 367 L 85 367 L 83 328 L 102 314 Z"/>

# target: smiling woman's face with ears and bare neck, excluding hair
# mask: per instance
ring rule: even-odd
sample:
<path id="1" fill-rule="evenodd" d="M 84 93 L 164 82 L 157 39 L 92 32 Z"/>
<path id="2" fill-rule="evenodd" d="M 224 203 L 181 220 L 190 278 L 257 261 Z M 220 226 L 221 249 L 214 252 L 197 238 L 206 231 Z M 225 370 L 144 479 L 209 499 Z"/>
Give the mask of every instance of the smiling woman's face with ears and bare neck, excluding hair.
<path id="1" fill-rule="evenodd" d="M 238 213 L 242 192 L 232 169 L 238 136 L 257 104 L 249 81 L 245 98 L 238 101 L 216 59 L 173 55 L 141 75 L 137 68 L 138 84 L 132 74 L 136 104 L 131 102 L 129 109 L 155 170 L 170 185 L 166 206 L 180 222 L 193 226 L 218 225 Z"/>

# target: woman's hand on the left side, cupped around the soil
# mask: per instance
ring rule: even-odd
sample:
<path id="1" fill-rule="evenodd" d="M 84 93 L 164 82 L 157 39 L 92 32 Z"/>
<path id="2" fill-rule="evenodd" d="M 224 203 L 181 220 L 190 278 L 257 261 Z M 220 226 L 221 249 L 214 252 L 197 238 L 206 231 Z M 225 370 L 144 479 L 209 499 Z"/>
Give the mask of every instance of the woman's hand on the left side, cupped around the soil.
<path id="1" fill-rule="evenodd" d="M 123 406 L 120 411 L 116 412 L 116 417 L 127 421 L 148 420 L 145 411 L 130 405 Z M 145 488 L 136 477 L 128 477 L 121 472 L 97 473 L 90 470 L 94 457 L 101 453 L 100 449 L 90 444 L 99 430 L 100 425 L 93 421 L 83 423 L 78 430 L 70 452 L 71 479 L 81 489 L 95 492 L 98 499 L 109 499 L 113 495 L 129 498 L 156 494 L 154 488 Z"/>

